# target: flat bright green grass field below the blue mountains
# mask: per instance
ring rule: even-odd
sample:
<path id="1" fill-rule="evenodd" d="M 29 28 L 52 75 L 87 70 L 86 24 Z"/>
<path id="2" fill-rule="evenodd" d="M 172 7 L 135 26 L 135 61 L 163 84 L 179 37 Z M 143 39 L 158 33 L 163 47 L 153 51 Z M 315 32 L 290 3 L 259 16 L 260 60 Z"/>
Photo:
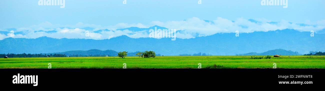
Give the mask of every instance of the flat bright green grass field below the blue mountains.
<path id="1" fill-rule="evenodd" d="M 325 56 L 281 56 L 249 59 L 251 56 L 160 56 L 139 57 L 62 57 L 0 59 L 0 68 L 325 68 Z M 259 57 L 259 56 L 258 56 Z M 213 66 L 213 65 L 216 66 Z"/>

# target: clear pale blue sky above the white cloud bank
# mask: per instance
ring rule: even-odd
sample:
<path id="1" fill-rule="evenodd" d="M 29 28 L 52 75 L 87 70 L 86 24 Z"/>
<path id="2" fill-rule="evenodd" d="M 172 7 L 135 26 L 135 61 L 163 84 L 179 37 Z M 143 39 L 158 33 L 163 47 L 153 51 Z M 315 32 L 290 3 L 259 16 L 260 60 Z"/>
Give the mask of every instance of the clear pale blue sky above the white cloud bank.
<path id="1" fill-rule="evenodd" d="M 261 0 L 65 0 L 65 7 L 39 6 L 39 0 L 1 0 L 0 29 L 30 27 L 44 22 L 78 22 L 110 26 L 117 23 L 149 24 L 189 18 L 215 20 L 286 20 L 310 23 L 325 19 L 325 0 L 288 0 L 288 8 L 261 6 Z"/>

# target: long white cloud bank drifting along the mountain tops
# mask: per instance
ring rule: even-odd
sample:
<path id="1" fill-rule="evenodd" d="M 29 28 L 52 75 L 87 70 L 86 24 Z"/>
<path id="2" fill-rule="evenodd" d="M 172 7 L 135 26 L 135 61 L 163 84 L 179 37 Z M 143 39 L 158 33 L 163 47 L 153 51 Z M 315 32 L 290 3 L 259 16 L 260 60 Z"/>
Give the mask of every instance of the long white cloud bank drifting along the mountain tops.
<path id="1" fill-rule="evenodd" d="M 208 36 L 220 32 L 254 32 L 254 31 L 273 31 L 273 30 L 283 30 L 283 29 L 294 29 L 298 31 L 321 31 L 325 28 L 325 20 L 320 20 L 315 23 L 310 21 L 306 22 L 307 24 L 302 26 L 297 23 L 290 23 L 289 21 L 282 20 L 277 23 L 268 23 L 267 19 L 258 19 L 259 22 L 251 22 L 250 20 L 238 18 L 234 21 L 216 18 L 211 20 L 211 22 L 206 22 L 205 20 L 193 17 L 181 21 L 152 21 L 148 25 L 141 23 L 137 24 L 127 24 L 127 23 L 118 23 L 112 26 L 101 26 L 95 24 L 84 24 L 79 22 L 75 25 L 60 25 L 52 24 L 50 22 L 44 22 L 38 25 L 32 25 L 27 28 L 16 28 L 15 32 L 27 32 L 26 34 L 15 34 L 14 38 L 38 38 L 42 36 L 52 37 L 52 38 L 80 38 L 80 39 L 110 39 L 113 37 L 127 35 L 131 38 L 140 38 L 140 37 L 149 37 L 148 30 L 134 31 L 134 30 L 117 30 L 129 27 L 138 27 L 138 28 L 149 28 L 154 25 L 161 27 L 166 27 L 169 29 L 182 30 L 181 32 L 176 33 L 177 38 L 187 39 L 195 38 L 197 36 Z M 89 27 L 92 30 L 85 30 L 82 28 Z M 108 29 L 109 31 L 101 31 L 96 33 L 97 30 Z M 28 31 L 27 31 L 28 30 Z M 34 32 L 43 30 L 45 32 Z M 9 32 L 7 34 L 0 34 L 0 40 L 11 37 L 10 31 L 2 29 L 0 31 Z M 48 32 L 47 31 L 57 31 L 57 32 Z M 86 35 L 86 31 L 89 31 L 89 36 Z"/>

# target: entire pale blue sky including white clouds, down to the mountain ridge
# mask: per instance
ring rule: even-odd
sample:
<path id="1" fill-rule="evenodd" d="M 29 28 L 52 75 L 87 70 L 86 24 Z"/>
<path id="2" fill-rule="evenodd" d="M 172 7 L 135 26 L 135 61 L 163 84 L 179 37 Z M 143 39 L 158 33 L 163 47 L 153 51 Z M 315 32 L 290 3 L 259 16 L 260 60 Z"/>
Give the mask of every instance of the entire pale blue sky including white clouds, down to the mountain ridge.
<path id="1" fill-rule="evenodd" d="M 325 29 L 324 0 L 288 0 L 287 8 L 262 6 L 262 0 L 201 0 L 201 4 L 198 4 L 199 0 L 126 0 L 126 4 L 123 1 L 65 0 L 65 7 L 60 8 L 39 6 L 39 0 L 2 0 L 0 40 L 11 37 L 12 29 L 8 28 L 19 32 L 15 33 L 15 38 L 90 39 L 110 39 L 120 35 L 148 37 L 146 30 L 117 29 L 154 25 L 184 30 L 176 34 L 178 38 L 235 31 L 295 29 L 318 32 Z M 268 23 L 271 21 L 277 23 Z M 90 27 L 90 30 L 84 27 Z M 95 32 L 105 29 L 109 31 Z M 40 30 L 45 32 L 35 32 Z M 90 37 L 85 37 L 86 31 L 90 32 Z"/>

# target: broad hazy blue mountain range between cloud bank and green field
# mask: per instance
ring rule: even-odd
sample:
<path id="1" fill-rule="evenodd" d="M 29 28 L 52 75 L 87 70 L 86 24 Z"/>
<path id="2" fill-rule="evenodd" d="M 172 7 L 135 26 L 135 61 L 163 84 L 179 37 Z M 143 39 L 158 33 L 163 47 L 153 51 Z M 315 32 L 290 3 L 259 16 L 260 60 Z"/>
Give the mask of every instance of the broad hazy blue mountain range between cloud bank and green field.
<path id="1" fill-rule="evenodd" d="M 325 34 L 299 32 L 291 29 L 269 32 L 216 33 L 191 39 L 170 38 L 130 38 L 119 36 L 111 39 L 55 39 L 40 37 L 36 39 L 6 38 L 0 40 L 0 53 L 57 53 L 72 50 L 115 50 L 136 52 L 155 51 L 164 56 L 179 54 L 206 53 L 211 55 L 236 55 L 249 52 L 262 53 L 273 49 L 296 51 L 308 54 L 310 51 L 325 51 Z"/>

